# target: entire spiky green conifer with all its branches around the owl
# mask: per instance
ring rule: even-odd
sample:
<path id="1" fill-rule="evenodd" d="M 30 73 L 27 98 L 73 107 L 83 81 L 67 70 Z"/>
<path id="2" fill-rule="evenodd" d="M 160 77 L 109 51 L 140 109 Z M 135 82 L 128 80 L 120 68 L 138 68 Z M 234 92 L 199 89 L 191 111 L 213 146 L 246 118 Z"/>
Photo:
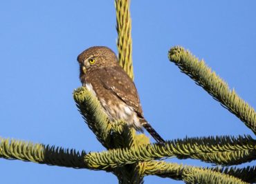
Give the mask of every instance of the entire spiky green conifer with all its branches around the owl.
<path id="1" fill-rule="evenodd" d="M 115 0 L 118 59 L 122 68 L 134 79 L 129 5 L 129 0 Z M 169 58 L 256 134 L 255 110 L 240 99 L 235 90 L 231 91 L 203 61 L 181 47 L 172 48 Z M 221 165 L 245 163 L 256 157 L 256 142 L 250 136 L 186 138 L 150 145 L 147 136 L 136 135 L 136 131 L 127 127 L 127 123 L 110 122 L 98 99 L 86 88 L 75 90 L 73 98 L 100 143 L 113 150 L 86 154 L 84 151 L 80 153 L 73 149 L 0 138 L 0 157 L 62 167 L 105 170 L 116 174 L 119 183 L 143 183 L 143 176 L 147 175 L 183 180 L 186 183 L 245 183 L 256 180 L 255 166 L 243 169 L 201 168 L 153 161 L 177 156 L 179 159 L 201 159 Z"/>

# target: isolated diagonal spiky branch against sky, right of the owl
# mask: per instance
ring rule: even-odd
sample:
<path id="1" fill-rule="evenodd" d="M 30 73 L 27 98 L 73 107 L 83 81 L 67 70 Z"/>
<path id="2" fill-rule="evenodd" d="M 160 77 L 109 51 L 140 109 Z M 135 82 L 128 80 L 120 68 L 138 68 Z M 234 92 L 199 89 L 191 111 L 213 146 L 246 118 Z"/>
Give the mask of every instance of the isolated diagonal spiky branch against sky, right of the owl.
<path id="1" fill-rule="evenodd" d="M 181 72 L 188 74 L 196 84 L 206 90 L 221 105 L 235 114 L 247 127 L 256 134 L 256 113 L 243 99 L 230 90 L 228 84 L 224 82 L 215 72 L 212 72 L 204 61 L 194 57 L 188 50 L 175 46 L 169 51 L 169 59 L 181 69 Z"/>

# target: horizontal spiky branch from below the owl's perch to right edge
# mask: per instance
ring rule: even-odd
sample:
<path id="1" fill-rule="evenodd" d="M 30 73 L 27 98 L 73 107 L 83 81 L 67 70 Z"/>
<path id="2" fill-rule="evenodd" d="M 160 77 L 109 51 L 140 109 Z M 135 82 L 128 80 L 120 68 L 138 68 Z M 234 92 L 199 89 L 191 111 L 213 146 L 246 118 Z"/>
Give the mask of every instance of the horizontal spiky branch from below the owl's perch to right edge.
<path id="1" fill-rule="evenodd" d="M 237 154 L 238 153 L 238 154 Z M 212 156 L 214 155 L 214 156 Z M 237 156 L 239 155 L 239 156 Z M 201 159 L 222 165 L 245 163 L 255 159 L 256 142 L 250 136 L 186 138 L 166 141 L 165 144 L 140 145 L 130 149 L 91 152 L 85 156 L 90 167 L 106 169 L 177 156 L 179 159 Z"/>

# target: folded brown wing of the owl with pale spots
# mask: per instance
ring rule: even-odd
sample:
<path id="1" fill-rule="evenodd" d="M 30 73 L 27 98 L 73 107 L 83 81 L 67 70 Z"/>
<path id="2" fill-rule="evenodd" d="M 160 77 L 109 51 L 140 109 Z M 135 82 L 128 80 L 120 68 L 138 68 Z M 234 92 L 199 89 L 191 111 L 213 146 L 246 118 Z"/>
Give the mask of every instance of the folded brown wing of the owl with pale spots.
<path id="1" fill-rule="evenodd" d="M 113 94 L 124 101 L 127 105 L 134 108 L 138 116 L 143 118 L 143 110 L 140 105 L 140 99 L 134 82 L 119 65 L 115 67 L 102 68 L 107 76 L 100 75 L 104 88 L 111 90 Z M 101 72 L 99 72 L 101 73 Z"/>

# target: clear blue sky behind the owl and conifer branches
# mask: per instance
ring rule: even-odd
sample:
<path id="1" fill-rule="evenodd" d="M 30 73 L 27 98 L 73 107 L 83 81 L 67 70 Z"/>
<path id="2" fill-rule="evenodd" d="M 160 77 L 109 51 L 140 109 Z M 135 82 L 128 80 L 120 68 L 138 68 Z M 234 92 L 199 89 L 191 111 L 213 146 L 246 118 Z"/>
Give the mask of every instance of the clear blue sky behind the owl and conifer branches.
<path id="1" fill-rule="evenodd" d="M 164 139 L 253 136 L 179 72 L 167 52 L 173 45 L 188 48 L 256 107 L 255 7 L 252 0 L 131 1 L 135 83 L 145 117 Z M 117 51 L 113 1 L 1 1 L 0 25 L 0 136 L 104 150 L 77 111 L 72 92 L 80 86 L 80 52 L 93 45 Z M 106 172 L 5 159 L 0 167 L 1 183 L 117 183 Z M 145 183 L 181 182 L 147 176 Z"/>

